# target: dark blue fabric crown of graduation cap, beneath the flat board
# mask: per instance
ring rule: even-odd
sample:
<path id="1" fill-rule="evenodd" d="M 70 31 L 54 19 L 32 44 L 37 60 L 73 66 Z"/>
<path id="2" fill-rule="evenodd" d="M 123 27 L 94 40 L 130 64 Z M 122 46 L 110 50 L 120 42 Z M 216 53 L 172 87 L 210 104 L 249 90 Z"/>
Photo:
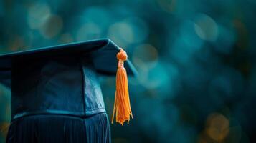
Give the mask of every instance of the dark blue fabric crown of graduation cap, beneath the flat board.
<path id="1" fill-rule="evenodd" d="M 85 117 L 105 112 L 97 73 L 88 56 L 13 62 L 12 119 L 32 114 Z"/>

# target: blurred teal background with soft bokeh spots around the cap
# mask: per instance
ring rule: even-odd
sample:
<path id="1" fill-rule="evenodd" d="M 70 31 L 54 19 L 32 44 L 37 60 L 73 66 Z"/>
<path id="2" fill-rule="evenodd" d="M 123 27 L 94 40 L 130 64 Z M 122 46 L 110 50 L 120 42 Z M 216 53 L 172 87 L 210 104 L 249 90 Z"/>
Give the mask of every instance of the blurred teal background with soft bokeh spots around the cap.
<path id="1" fill-rule="evenodd" d="M 113 142 L 256 142 L 255 0 L 0 1 L 0 53 L 109 38 L 138 69 Z M 115 78 L 101 80 L 112 114 Z M 0 142 L 10 122 L 0 84 Z"/>

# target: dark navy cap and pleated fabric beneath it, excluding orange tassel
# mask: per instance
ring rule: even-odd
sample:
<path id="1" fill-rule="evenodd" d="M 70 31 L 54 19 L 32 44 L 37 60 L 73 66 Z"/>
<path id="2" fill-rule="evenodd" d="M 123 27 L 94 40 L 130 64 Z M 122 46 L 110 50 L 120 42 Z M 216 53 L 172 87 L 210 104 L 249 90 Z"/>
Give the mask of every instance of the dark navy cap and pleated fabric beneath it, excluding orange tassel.
<path id="1" fill-rule="evenodd" d="M 110 142 L 98 74 L 115 75 L 118 51 L 100 39 L 0 55 L 0 82 L 11 86 L 6 142 Z"/>

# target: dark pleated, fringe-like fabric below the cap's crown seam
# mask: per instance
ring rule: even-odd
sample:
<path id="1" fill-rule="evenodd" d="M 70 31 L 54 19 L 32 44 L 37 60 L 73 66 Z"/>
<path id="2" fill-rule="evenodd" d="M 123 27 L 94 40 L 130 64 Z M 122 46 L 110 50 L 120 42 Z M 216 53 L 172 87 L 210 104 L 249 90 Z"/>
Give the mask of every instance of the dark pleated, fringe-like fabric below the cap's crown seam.
<path id="1" fill-rule="evenodd" d="M 108 143 L 111 142 L 107 114 L 80 118 L 62 115 L 33 115 L 14 120 L 7 143 Z"/>

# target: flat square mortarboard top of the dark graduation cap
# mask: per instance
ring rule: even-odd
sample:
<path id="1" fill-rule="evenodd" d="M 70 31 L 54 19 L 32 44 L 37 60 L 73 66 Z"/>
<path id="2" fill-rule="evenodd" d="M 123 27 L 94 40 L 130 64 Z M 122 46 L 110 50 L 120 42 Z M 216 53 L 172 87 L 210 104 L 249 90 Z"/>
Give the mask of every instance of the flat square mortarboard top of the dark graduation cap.
<path id="1" fill-rule="evenodd" d="M 38 59 L 57 56 L 82 56 L 90 54 L 90 60 L 95 70 L 100 74 L 115 75 L 118 61 L 116 54 L 119 47 L 110 39 L 97 39 L 57 46 L 48 46 L 27 51 L 18 51 L 0 55 L 0 82 L 10 87 L 12 62 L 19 59 Z M 88 56 L 87 56 L 88 57 Z M 26 64 L 26 63 L 24 63 Z M 125 61 L 127 74 L 136 75 L 136 69 L 131 61 Z"/>

